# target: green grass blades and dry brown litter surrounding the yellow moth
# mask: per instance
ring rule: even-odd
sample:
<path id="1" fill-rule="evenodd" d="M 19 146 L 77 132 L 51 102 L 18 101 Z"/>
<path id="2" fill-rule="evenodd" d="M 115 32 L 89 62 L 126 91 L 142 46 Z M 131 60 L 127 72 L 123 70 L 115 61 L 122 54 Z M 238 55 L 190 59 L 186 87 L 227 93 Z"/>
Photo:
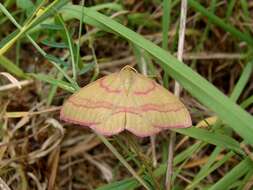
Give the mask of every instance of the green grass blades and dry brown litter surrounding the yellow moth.
<path id="1" fill-rule="evenodd" d="M 253 2 L 68 2 L 0 3 L 0 187 L 252 189 Z M 104 138 L 60 121 L 72 93 L 127 64 L 178 81 L 193 127 Z"/>

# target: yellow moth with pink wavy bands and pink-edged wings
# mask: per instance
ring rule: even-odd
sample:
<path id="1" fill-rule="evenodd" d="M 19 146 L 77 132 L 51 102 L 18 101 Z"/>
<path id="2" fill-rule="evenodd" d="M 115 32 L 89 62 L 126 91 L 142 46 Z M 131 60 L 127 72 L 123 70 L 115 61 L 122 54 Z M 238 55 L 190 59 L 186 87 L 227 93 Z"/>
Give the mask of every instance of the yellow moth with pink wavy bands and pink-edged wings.
<path id="1" fill-rule="evenodd" d="M 125 66 L 74 93 L 60 118 L 111 136 L 128 130 L 139 137 L 192 125 L 184 104 L 154 80 Z"/>

